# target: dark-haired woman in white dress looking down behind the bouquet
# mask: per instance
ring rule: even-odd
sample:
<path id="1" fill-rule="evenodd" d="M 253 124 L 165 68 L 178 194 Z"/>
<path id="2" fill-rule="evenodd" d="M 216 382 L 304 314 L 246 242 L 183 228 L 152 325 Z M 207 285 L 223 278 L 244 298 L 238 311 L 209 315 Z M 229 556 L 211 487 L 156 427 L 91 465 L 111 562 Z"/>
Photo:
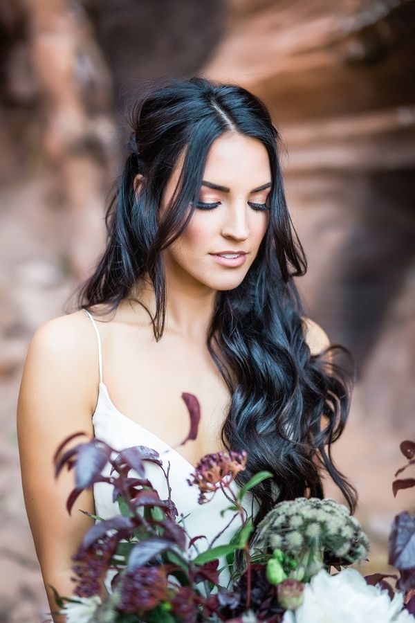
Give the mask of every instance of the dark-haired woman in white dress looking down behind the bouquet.
<path id="1" fill-rule="evenodd" d="M 73 472 L 55 480 L 53 454 L 77 431 L 119 450 L 167 453 L 190 534 L 221 529 L 185 485 L 201 457 L 221 449 L 247 451 L 239 485 L 262 469 L 274 474 L 252 490 L 256 523 L 276 501 L 324 496 L 324 471 L 356 507 L 330 455 L 351 376 L 297 294 L 306 259 L 268 110 L 239 86 L 196 77 L 154 87 L 132 125 L 107 247 L 77 310 L 35 332 L 19 391 L 24 500 L 52 611 L 50 585 L 73 593 L 71 557 L 93 523 L 77 509 L 116 512 L 102 483 L 66 512 Z M 199 399 L 201 422 L 196 440 L 180 445 L 183 391 Z"/>

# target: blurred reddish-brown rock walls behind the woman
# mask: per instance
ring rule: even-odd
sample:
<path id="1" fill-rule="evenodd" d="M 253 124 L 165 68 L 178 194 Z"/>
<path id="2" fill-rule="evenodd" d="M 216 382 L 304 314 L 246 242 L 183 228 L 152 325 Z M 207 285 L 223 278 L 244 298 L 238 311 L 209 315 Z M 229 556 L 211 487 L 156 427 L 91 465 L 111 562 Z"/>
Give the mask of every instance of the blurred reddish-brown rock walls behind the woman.
<path id="1" fill-rule="evenodd" d="M 363 571 L 387 571 L 391 520 L 415 510 L 391 491 L 415 438 L 415 1 L 3 0 L 0 55 L 0 623 L 47 618 L 15 430 L 28 341 L 102 251 L 126 111 L 169 75 L 241 84 L 282 134 L 297 284 L 358 364 L 334 458 L 360 495 Z"/>

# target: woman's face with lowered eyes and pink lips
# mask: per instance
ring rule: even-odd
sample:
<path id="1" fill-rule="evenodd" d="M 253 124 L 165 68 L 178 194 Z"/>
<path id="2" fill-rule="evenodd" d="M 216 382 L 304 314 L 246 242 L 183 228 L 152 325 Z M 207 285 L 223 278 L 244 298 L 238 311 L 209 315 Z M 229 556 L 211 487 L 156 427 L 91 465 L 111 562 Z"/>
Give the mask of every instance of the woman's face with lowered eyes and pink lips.
<path id="1" fill-rule="evenodd" d="M 182 165 L 183 154 L 167 183 L 161 214 L 173 195 Z M 231 132 L 216 138 L 192 219 L 163 251 L 166 274 L 214 290 L 239 286 L 266 233 L 270 186 L 268 152 L 260 141 Z M 203 204 L 211 204 L 210 209 Z M 218 257 L 232 252 L 243 255 L 237 259 Z"/>

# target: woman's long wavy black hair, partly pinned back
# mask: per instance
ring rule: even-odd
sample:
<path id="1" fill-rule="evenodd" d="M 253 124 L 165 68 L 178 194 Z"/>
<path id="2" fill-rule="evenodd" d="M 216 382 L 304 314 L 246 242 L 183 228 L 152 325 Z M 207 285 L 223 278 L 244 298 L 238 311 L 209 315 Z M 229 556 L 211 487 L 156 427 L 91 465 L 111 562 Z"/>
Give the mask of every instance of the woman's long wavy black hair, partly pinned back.
<path id="1" fill-rule="evenodd" d="M 166 308 L 160 251 L 183 233 L 192 217 L 195 208 L 189 213 L 188 208 L 199 197 L 210 146 L 223 132 L 257 138 L 268 151 L 272 172 L 268 229 L 241 285 L 217 292 L 207 336 L 232 396 L 221 439 L 228 449 L 248 453 L 240 485 L 263 469 L 274 475 L 252 489 L 259 503 L 255 523 L 279 500 L 322 498 L 324 470 L 354 512 L 356 489 L 331 457 L 331 444 L 347 421 L 353 365 L 339 345 L 312 355 L 306 343 L 304 308 L 293 281 L 306 272 L 306 258 L 288 214 L 281 139 L 267 107 L 234 84 L 203 76 L 173 79 L 140 98 L 131 125 L 131 153 L 105 217 L 107 248 L 79 289 L 79 307 L 104 303 L 116 309 L 148 273 L 156 296 L 152 321 L 158 341 Z M 178 192 L 160 219 L 158 206 L 181 152 L 185 160 Z M 139 173 L 145 183 L 136 192 Z"/>

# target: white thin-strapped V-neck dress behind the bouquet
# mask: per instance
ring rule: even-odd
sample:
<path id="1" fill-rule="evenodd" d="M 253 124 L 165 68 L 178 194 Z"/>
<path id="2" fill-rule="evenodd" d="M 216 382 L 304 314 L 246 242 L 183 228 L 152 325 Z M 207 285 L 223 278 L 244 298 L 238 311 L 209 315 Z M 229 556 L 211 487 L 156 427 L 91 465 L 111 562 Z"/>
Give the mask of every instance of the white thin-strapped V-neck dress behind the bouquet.
<path id="1" fill-rule="evenodd" d="M 219 489 L 214 494 L 213 499 L 205 504 L 198 503 L 199 489 L 196 486 L 190 486 L 187 483 L 187 478 L 190 477 L 190 473 L 194 472 L 194 467 L 188 462 L 178 451 L 163 442 L 159 437 L 147 431 L 146 428 L 133 422 L 132 419 L 120 413 L 116 406 L 109 397 L 107 386 L 102 382 L 102 347 L 100 341 L 100 333 L 98 327 L 93 319 L 93 316 L 87 311 L 85 313 L 91 318 L 95 332 L 98 338 L 98 359 L 100 369 L 100 384 L 98 389 L 98 401 L 93 413 L 93 428 L 95 437 L 107 442 L 111 447 L 117 451 L 121 451 L 124 448 L 131 446 L 142 445 L 148 446 L 156 450 L 160 454 L 160 459 L 163 461 L 163 467 L 166 469 L 168 462 L 170 463 L 169 471 L 169 485 L 172 489 L 172 500 L 174 501 L 177 510 L 178 521 L 182 516 L 184 517 L 183 527 L 189 538 L 194 536 L 204 535 L 206 539 L 199 539 L 196 542 L 199 552 L 203 552 L 206 549 L 208 542 L 212 541 L 216 534 L 219 534 L 221 530 L 230 522 L 232 518 L 232 512 L 226 512 L 223 517 L 220 515 L 220 511 L 230 505 L 230 501 L 225 497 L 223 492 Z M 109 475 L 110 465 L 108 464 L 103 473 Z M 156 464 L 151 462 L 145 462 L 146 476 L 151 481 L 153 487 L 158 491 L 160 498 L 166 499 L 168 496 L 167 483 L 163 475 L 163 471 Z M 134 475 L 134 471 L 131 471 L 130 476 Z M 238 490 L 236 483 L 232 483 L 234 491 Z M 102 519 L 109 519 L 115 515 L 120 514 L 118 504 L 112 501 L 113 487 L 106 482 L 97 482 L 93 485 L 93 496 L 95 500 L 95 514 Z M 243 506 L 248 513 L 248 516 L 252 515 L 252 512 L 257 512 L 257 502 L 252 495 L 248 492 L 243 499 Z M 234 521 L 224 530 L 223 534 L 219 536 L 214 542 L 216 545 L 224 545 L 229 543 L 232 535 L 239 529 L 241 523 L 239 518 L 235 518 Z M 191 557 L 194 558 L 197 555 L 196 548 L 192 548 Z M 225 564 L 225 559 L 219 559 L 219 568 Z M 107 590 L 111 592 L 110 582 L 115 575 L 115 572 L 109 572 L 105 581 Z M 219 583 L 222 586 L 228 584 L 229 574 L 228 570 L 224 569 L 221 572 Z"/>

